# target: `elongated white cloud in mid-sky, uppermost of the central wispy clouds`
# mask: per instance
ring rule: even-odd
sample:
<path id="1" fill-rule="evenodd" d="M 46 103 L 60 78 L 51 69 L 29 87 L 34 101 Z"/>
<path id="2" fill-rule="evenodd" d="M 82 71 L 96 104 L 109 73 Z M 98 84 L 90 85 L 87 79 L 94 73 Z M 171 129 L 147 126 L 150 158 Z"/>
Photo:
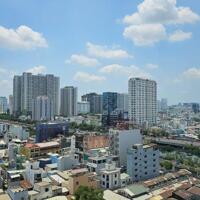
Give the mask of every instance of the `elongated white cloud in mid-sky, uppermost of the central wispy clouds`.
<path id="1" fill-rule="evenodd" d="M 131 57 L 125 50 L 116 47 L 109 48 L 108 46 L 96 45 L 90 42 L 87 43 L 87 51 L 89 55 L 107 59 Z"/>

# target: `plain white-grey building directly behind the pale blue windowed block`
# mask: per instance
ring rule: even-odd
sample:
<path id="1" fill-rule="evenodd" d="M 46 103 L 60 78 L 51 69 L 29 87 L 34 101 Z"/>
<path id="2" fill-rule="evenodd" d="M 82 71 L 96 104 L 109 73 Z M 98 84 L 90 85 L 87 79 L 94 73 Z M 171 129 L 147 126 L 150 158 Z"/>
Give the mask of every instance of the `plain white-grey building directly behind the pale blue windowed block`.
<path id="1" fill-rule="evenodd" d="M 126 152 L 133 144 L 142 143 L 142 135 L 139 129 L 109 130 L 110 153 L 119 156 L 119 166 L 126 166 Z"/>

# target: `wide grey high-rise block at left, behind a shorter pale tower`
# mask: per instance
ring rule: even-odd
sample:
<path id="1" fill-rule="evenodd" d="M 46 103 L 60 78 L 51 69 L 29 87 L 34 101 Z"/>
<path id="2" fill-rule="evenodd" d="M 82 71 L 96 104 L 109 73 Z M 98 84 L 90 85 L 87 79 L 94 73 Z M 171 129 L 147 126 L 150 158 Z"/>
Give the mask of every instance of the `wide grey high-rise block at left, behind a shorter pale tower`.
<path id="1" fill-rule="evenodd" d="M 59 114 L 60 80 L 52 74 L 33 75 L 23 73 L 13 79 L 13 111 L 15 115 L 23 112 L 31 114 L 32 101 L 38 96 L 47 96 L 53 102 L 54 114 Z"/>

